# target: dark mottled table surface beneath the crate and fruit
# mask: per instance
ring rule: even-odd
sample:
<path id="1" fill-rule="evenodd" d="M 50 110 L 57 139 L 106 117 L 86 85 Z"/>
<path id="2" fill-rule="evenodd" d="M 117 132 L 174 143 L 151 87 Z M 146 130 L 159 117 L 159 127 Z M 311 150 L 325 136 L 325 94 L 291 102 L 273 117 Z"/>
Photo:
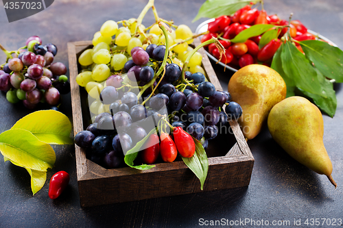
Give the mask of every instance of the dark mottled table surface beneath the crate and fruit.
<path id="1" fill-rule="evenodd" d="M 156 0 L 158 15 L 173 19 L 176 25 L 186 24 L 193 31 L 208 18 L 191 23 L 200 5 L 196 0 Z M 115 21 L 137 17 L 147 0 L 95 1 L 60 0 L 49 8 L 8 23 L 3 5 L 0 4 L 0 43 L 7 49 L 18 49 L 29 36 L 38 35 L 43 43 L 58 46 L 55 61 L 68 64 L 67 42 L 91 40 L 95 31 L 108 19 Z M 265 10 L 288 18 L 291 12 L 313 31 L 326 36 L 343 48 L 343 1 L 342 0 L 266 0 Z M 151 11 L 143 24 L 154 21 Z M 0 53 L 0 62 L 5 55 Z M 214 66 L 226 88 L 231 73 L 224 73 L 221 66 Z M 32 197 L 27 171 L 0 161 L 0 227 L 201 227 L 204 220 L 255 220 L 254 223 L 233 227 L 265 227 L 262 220 L 301 220 L 298 227 L 329 227 L 322 225 L 324 219 L 343 219 L 343 92 L 342 85 L 335 85 L 338 107 L 333 118 L 324 118 L 324 145 L 333 163 L 333 178 L 338 183 L 335 189 L 327 177 L 318 175 L 295 162 L 272 140 L 268 130 L 248 141 L 255 165 L 250 185 L 246 188 L 202 192 L 176 197 L 165 197 L 104 205 L 80 207 L 75 169 L 75 151 L 71 146 L 54 146 L 56 164 L 47 173 L 47 180 L 58 170 L 71 175 L 69 187 L 56 200 L 48 197 L 49 181 Z M 70 96 L 63 97 L 60 110 L 71 118 Z M 10 129 L 19 118 L 28 114 L 21 105 L 12 105 L 0 94 L 0 132 Z M 226 149 L 226 148 L 223 148 Z M 3 159 L 0 155 L 1 160 Z M 320 225 L 305 225 L 305 220 L 318 218 Z M 329 220 L 325 220 L 325 223 Z M 279 222 L 280 224 L 281 222 Z M 283 223 L 283 222 L 282 222 Z M 220 227 L 220 226 L 217 226 Z M 228 225 L 230 227 L 230 225 Z"/>

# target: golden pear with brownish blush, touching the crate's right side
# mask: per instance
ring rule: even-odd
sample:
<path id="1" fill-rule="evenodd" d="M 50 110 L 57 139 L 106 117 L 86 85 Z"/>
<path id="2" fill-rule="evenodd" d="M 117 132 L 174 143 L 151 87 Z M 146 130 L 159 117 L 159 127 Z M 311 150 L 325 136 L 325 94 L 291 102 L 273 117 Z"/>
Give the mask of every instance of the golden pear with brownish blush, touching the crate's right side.
<path id="1" fill-rule="evenodd" d="M 265 126 L 272 107 L 285 99 L 287 88 L 283 78 L 272 68 L 251 64 L 233 74 L 228 92 L 232 101 L 241 105 L 243 112 L 237 121 L 249 140 Z"/>

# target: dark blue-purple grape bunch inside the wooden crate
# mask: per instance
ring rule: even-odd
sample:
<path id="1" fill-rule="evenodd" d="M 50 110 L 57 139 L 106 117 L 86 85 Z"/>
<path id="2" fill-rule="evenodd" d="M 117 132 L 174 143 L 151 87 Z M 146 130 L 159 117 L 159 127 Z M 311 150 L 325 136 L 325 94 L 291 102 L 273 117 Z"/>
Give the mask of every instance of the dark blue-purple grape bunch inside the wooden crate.
<path id="1" fill-rule="evenodd" d="M 164 45 L 132 49 L 132 60 L 124 69 L 139 90 L 124 84 L 120 75 L 106 79 L 99 101 L 109 105 L 108 112 L 98 113 L 93 123 L 75 136 L 75 144 L 86 149 L 88 159 L 106 168 L 122 166 L 124 154 L 145 138 L 162 116 L 167 116 L 173 127 L 185 129 L 206 149 L 208 140 L 226 127 L 228 118 L 241 116 L 241 107 L 230 101 L 230 93 L 215 90 L 202 73 L 185 71 L 181 77 L 180 66 L 169 63 L 161 75 L 156 75 L 165 51 Z"/>

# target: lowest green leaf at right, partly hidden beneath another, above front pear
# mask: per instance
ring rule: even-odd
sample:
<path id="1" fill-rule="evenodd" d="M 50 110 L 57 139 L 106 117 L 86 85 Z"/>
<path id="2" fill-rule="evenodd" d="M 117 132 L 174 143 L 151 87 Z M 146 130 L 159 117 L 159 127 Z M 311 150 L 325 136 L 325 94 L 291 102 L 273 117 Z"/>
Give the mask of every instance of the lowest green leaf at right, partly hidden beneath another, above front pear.
<path id="1" fill-rule="evenodd" d="M 318 70 L 317 70 L 318 71 Z M 314 100 L 314 103 L 320 108 L 320 110 L 326 112 L 331 118 L 335 115 L 336 107 L 337 107 L 337 99 L 335 95 L 335 90 L 333 90 L 333 84 L 328 79 L 322 77 L 322 88 L 327 94 L 327 98 L 320 97 L 316 94 L 311 94 L 310 92 L 306 92 L 304 90 L 300 90 L 305 94 L 307 97 L 310 97 Z"/>

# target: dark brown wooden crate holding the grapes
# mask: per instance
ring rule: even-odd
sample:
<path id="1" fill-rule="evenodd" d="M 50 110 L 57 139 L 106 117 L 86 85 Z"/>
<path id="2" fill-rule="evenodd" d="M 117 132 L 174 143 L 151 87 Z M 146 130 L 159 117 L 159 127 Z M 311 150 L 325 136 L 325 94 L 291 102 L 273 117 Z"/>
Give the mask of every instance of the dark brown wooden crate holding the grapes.
<path id="1" fill-rule="evenodd" d="M 200 40 L 195 40 L 195 45 L 199 43 Z M 90 47 L 91 41 L 68 43 L 74 136 L 84 130 L 90 118 L 84 107 L 86 92 L 75 82 L 79 67 L 78 56 Z M 222 90 L 204 49 L 200 49 L 200 53 L 207 78 L 217 90 Z M 221 136 L 220 139 L 217 137 L 213 139 L 217 139 L 215 142 L 209 142 L 206 150 L 209 171 L 203 192 L 243 187 L 250 183 L 254 158 L 238 123 L 230 121 L 230 127 L 233 134 Z M 182 161 L 156 164 L 150 170 L 130 167 L 106 169 L 86 159 L 85 151 L 77 145 L 75 158 L 82 207 L 202 192 L 200 181 Z"/>

